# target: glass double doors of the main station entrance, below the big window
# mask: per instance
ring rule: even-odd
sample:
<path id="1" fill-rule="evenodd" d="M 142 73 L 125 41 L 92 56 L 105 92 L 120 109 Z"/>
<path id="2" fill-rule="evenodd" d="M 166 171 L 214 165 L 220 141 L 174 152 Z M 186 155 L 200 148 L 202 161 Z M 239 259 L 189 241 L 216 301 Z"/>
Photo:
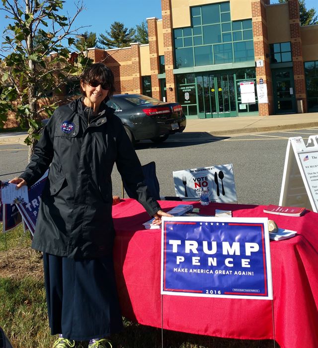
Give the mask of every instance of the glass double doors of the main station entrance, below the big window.
<path id="1" fill-rule="evenodd" d="M 199 118 L 237 116 L 232 74 L 197 76 Z"/>

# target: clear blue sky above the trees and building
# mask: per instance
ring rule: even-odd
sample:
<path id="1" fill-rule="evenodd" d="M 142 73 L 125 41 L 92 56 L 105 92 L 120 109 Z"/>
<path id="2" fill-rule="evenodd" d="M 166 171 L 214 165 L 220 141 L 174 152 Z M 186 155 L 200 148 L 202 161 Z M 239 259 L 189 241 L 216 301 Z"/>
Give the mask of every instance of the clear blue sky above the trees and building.
<path id="1" fill-rule="evenodd" d="M 67 11 L 69 16 L 74 15 L 75 3 L 77 1 L 65 0 L 63 12 Z M 92 31 L 97 37 L 100 33 L 105 33 L 105 30 L 109 31 L 110 24 L 114 21 L 122 22 L 127 28 L 131 28 L 149 17 L 162 18 L 160 0 L 84 0 L 83 3 L 85 10 L 77 17 L 73 28 L 88 26 L 80 29 L 79 33 Z M 314 7 L 318 14 L 318 0 L 306 0 L 306 7 L 307 9 Z M 0 11 L 0 33 L 7 24 L 4 12 Z"/>

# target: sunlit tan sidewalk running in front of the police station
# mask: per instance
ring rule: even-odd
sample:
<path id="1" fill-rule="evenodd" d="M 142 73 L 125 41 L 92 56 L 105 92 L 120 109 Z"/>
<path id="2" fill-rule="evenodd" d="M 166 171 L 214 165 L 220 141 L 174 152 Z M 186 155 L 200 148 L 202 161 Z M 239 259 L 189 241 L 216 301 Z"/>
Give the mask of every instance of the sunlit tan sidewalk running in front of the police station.
<path id="1" fill-rule="evenodd" d="M 184 132 L 205 132 L 213 136 L 287 131 L 318 127 L 318 113 L 273 116 L 225 117 L 218 119 L 187 120 Z M 317 132 L 318 134 L 318 132 Z M 0 133 L 0 145 L 21 143 L 26 132 Z"/>

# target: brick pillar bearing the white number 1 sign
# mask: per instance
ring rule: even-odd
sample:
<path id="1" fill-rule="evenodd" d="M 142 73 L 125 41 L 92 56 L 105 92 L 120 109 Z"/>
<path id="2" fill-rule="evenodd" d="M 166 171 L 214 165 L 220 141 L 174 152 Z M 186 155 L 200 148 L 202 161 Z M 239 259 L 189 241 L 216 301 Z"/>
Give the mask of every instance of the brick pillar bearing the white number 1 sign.
<path id="1" fill-rule="evenodd" d="M 262 78 L 267 86 L 268 103 L 258 104 L 259 116 L 272 115 L 274 112 L 273 105 L 273 88 L 272 74 L 270 70 L 269 44 L 267 36 L 266 4 L 269 0 L 252 0 L 252 24 L 254 39 L 254 56 L 255 61 L 262 60 L 263 67 L 256 67 L 256 83 Z"/>

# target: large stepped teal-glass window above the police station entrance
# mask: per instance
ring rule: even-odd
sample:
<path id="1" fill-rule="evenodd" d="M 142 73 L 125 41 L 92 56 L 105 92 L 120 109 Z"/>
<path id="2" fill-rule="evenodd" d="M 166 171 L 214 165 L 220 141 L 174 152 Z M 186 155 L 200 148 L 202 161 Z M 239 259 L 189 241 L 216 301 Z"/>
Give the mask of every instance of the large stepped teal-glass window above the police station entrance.
<path id="1" fill-rule="evenodd" d="M 191 7 L 191 27 L 173 33 L 176 68 L 254 61 L 252 21 L 231 21 L 230 2 Z"/>

